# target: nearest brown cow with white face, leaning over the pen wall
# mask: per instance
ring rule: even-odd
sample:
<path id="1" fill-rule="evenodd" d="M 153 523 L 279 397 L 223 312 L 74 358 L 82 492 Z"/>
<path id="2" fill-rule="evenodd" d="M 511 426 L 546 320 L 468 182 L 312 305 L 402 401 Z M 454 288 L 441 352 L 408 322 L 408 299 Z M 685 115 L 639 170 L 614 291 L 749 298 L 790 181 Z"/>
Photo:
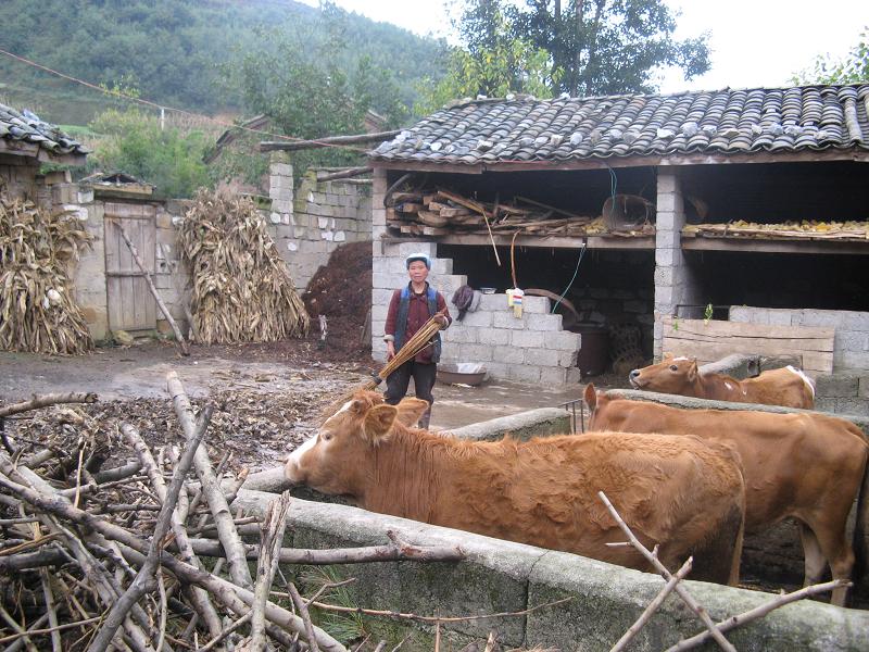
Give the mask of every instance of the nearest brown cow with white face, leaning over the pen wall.
<path id="1" fill-rule="evenodd" d="M 604 491 L 670 568 L 735 582 L 745 488 L 736 453 L 698 438 L 610 434 L 463 441 L 405 424 L 426 402 L 357 392 L 297 449 L 287 478 L 373 512 L 651 569 L 597 497 Z"/>

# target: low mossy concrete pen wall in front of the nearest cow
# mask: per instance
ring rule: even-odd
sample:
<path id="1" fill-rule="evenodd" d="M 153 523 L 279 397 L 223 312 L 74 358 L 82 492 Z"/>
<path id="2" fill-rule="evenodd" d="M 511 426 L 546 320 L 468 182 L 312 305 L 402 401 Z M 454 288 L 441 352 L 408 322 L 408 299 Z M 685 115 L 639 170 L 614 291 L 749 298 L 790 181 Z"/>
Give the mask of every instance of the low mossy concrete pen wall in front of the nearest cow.
<path id="1" fill-rule="evenodd" d="M 245 513 L 263 514 L 274 499 L 274 493 L 242 489 L 235 504 Z M 336 578 L 356 578 L 348 587 L 348 595 L 354 605 L 367 609 L 441 616 L 522 613 L 444 624 L 439 629 L 441 645 L 453 650 L 481 643 L 492 629 L 498 630 L 499 641 L 506 648 L 609 650 L 664 587 L 662 578 L 653 574 L 347 505 L 295 499 L 287 523 L 284 544 L 288 548 L 382 546 L 389 543 L 388 531 L 412 544 L 459 547 L 465 557 L 458 562 L 354 564 L 349 569 L 337 569 Z M 297 568 L 285 565 L 282 570 L 301 581 L 294 575 Z M 684 586 L 716 622 L 774 598 L 760 591 L 692 580 Z M 551 604 L 562 599 L 569 600 Z M 532 609 L 543 604 L 550 606 Z M 526 610 L 529 611 L 525 613 Z M 434 645 L 433 627 L 376 618 L 366 619 L 366 628 L 373 639 L 386 639 L 390 648 L 401 642 L 402 650 L 413 652 Z M 679 598 L 671 594 L 630 649 L 664 650 L 702 629 Z M 869 648 L 869 615 L 804 600 L 736 628 L 727 638 L 744 651 L 856 652 Z M 713 649 L 710 644 L 708 649 Z"/>

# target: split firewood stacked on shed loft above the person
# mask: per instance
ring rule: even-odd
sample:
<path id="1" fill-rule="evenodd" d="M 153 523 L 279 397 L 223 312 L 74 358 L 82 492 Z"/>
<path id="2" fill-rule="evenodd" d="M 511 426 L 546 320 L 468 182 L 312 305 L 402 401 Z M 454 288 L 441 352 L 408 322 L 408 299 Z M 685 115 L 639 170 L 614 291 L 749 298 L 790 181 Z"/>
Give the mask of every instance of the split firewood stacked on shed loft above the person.
<path id="1" fill-rule="evenodd" d="M 513 234 L 582 237 L 607 233 L 603 218 L 526 197 L 484 202 L 445 188 L 394 192 L 387 226 L 411 236 Z"/>

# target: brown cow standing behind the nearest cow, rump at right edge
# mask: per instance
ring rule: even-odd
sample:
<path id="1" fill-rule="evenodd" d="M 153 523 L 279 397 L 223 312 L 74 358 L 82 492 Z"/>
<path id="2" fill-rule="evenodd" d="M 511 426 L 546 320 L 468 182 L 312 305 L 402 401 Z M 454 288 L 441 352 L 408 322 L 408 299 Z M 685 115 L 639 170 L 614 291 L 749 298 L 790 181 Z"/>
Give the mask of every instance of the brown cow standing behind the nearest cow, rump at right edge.
<path id="1" fill-rule="evenodd" d="M 834 578 L 849 578 L 854 552 L 845 522 L 862 484 L 869 446 L 843 418 L 819 413 L 680 410 L 607 397 L 585 387 L 590 430 L 697 435 L 735 446 L 746 486 L 745 529 L 763 530 L 782 518 L 799 522 L 806 584 L 820 580 L 827 562 Z M 865 518 L 858 511 L 858 518 Z M 844 604 L 845 589 L 833 592 Z"/>

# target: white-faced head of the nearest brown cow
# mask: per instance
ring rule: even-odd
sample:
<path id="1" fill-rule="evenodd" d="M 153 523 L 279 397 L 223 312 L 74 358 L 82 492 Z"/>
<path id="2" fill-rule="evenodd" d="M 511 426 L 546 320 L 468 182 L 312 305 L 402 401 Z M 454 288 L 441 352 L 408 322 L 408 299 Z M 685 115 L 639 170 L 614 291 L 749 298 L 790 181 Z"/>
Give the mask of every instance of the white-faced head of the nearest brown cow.
<path id="1" fill-rule="evenodd" d="M 428 402 L 419 399 L 387 405 L 379 393 L 356 392 L 290 454 L 284 473 L 293 485 L 358 497 L 371 468 L 367 461 L 377 447 L 387 442 L 395 428 L 415 425 L 427 409 Z"/>

